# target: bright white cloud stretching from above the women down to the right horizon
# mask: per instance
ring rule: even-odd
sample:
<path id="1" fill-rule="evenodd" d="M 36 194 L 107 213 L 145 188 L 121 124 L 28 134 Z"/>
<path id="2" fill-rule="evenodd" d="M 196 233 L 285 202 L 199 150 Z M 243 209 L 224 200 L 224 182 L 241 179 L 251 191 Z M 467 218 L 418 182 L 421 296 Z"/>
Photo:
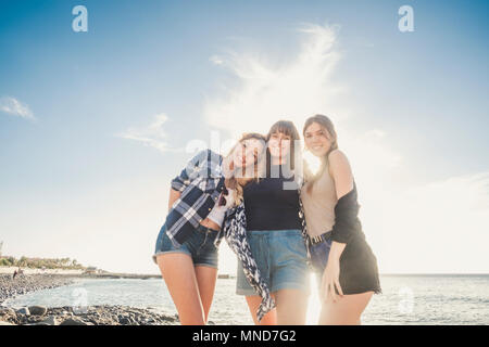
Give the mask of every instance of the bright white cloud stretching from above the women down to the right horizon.
<path id="1" fill-rule="evenodd" d="M 306 117 L 330 116 L 352 164 L 362 223 L 381 272 L 488 272 L 489 174 L 415 181 L 414 154 L 399 153 L 384 129 L 360 129 L 358 115 L 368 117 L 362 105 L 339 104 L 346 89 L 333 78 L 340 59 L 336 31 L 304 26 L 294 59 L 280 64 L 248 52 L 213 56 L 235 78 L 208 95 L 206 121 L 236 136 L 266 132 L 280 118 L 301 131 Z"/>

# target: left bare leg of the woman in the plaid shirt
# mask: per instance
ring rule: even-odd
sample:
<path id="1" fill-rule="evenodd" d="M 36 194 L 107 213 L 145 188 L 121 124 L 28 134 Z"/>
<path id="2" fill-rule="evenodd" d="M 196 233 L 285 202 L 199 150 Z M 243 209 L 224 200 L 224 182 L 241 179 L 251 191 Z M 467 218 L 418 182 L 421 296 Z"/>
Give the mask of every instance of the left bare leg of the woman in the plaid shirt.
<path id="1" fill-rule="evenodd" d="M 168 253 L 156 257 L 163 280 L 183 325 L 205 324 L 193 262 L 189 255 Z"/>

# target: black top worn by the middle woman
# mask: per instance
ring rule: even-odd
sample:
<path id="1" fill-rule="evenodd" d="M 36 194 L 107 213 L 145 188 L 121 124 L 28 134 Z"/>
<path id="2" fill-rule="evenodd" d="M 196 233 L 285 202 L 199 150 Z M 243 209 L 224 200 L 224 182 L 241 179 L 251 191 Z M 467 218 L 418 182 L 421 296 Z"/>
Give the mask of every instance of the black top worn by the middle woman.
<path id="1" fill-rule="evenodd" d="M 261 178 L 243 189 L 247 230 L 301 229 L 299 191 L 293 176 L 274 165 L 271 172 L 279 175 Z"/>

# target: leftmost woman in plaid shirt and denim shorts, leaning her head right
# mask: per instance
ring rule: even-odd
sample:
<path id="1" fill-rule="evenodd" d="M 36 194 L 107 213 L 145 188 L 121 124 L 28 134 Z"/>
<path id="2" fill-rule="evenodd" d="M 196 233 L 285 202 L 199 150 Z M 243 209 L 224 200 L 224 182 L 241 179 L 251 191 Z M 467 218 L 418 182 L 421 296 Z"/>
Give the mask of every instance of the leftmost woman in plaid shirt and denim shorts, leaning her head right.
<path id="1" fill-rule="evenodd" d="M 172 180 L 170 211 L 156 239 L 153 261 L 181 324 L 208 321 L 224 216 L 241 203 L 242 187 L 258 176 L 264 147 L 262 134 L 244 134 L 226 157 L 201 151 Z"/>

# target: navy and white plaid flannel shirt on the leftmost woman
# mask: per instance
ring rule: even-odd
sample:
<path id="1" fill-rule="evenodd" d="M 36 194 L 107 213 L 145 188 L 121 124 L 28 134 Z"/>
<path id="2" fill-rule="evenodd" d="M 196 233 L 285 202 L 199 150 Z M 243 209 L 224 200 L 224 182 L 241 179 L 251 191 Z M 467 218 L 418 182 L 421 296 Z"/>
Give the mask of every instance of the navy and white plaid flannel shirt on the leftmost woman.
<path id="1" fill-rule="evenodd" d="M 224 190 L 223 156 L 204 150 L 191 158 L 180 175 L 172 180 L 172 189 L 180 192 L 166 216 L 166 234 L 179 247 L 199 223 L 208 217 Z M 222 240 L 220 232 L 215 245 Z"/>

